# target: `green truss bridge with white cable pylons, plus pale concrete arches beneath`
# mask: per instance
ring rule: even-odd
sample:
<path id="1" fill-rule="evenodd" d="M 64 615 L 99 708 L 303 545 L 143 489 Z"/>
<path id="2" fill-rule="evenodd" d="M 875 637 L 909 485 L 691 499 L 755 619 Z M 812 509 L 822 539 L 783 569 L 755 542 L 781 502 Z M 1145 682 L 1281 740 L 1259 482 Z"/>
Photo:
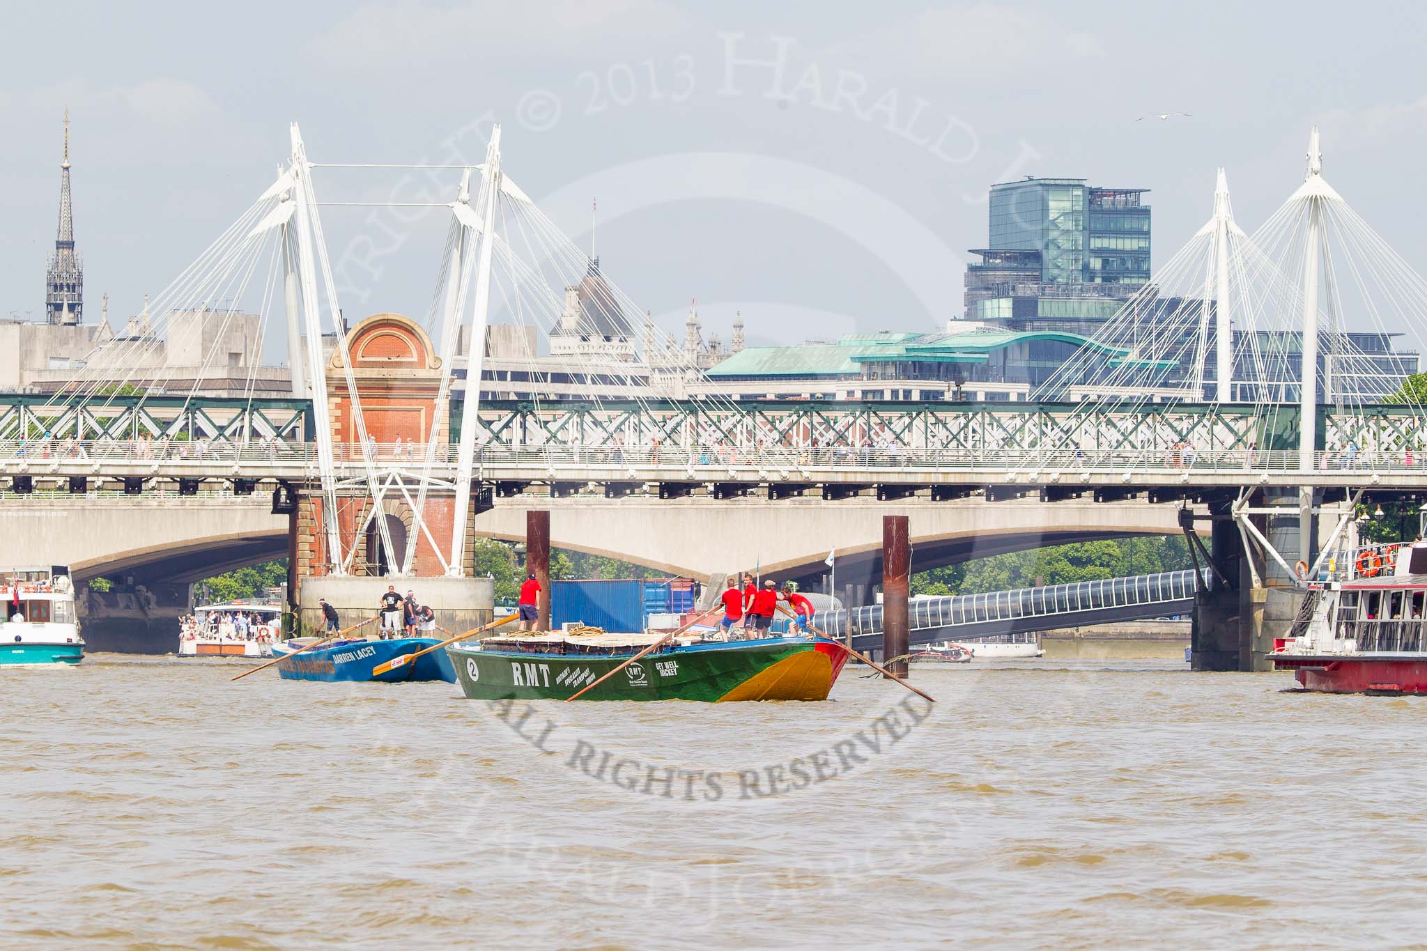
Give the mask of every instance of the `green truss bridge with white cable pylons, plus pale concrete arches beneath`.
<path id="1" fill-rule="evenodd" d="M 860 559 L 863 579 L 882 566 L 876 512 L 910 519 L 919 569 L 1183 530 L 1210 579 L 1196 666 L 1256 669 L 1291 620 L 1297 577 L 1319 572 L 1359 506 L 1427 490 L 1423 408 L 1354 395 L 1367 365 L 1343 317 L 1414 329 L 1427 284 L 1323 180 L 1316 131 L 1303 184 L 1260 232 L 1234 224 L 1220 171 L 1209 222 L 1100 346 L 1015 403 L 655 386 L 626 401 L 472 399 L 482 348 L 458 342 L 488 325 L 558 327 L 588 341 L 565 356 L 595 374 L 642 311 L 504 175 L 497 127 L 484 164 L 452 167 L 434 331 L 397 314 L 348 327 L 320 207 L 350 202 L 317 200 L 327 167 L 294 125 L 273 187 L 151 305 L 228 301 L 231 314 L 261 298 L 264 327 L 273 314 L 287 331 L 290 398 L 207 398 L 201 374 L 173 394 L 161 371 L 140 376 L 163 318 L 154 339 L 107 345 L 56 394 L 0 396 L 0 489 L 27 560 L 70 562 L 81 580 L 148 566 L 181 582 L 287 552 L 291 597 L 310 612 L 313 576 L 469 577 L 474 538 L 519 539 L 532 510 L 552 516 L 532 553 L 554 543 L 702 576 L 758 565 L 813 583 L 829 549 L 839 572 L 852 570 L 841 559 Z M 61 529 L 77 522 L 94 530 Z"/>

